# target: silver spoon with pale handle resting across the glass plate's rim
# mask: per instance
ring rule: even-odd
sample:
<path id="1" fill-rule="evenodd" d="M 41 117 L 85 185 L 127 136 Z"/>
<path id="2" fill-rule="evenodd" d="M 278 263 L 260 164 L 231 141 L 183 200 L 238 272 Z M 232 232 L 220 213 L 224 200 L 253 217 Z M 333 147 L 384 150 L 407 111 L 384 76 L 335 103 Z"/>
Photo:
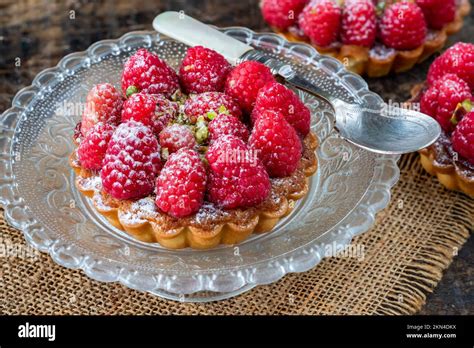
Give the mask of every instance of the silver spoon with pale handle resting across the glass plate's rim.
<path id="1" fill-rule="evenodd" d="M 325 99 L 334 108 L 341 137 L 368 151 L 382 154 L 415 152 L 433 144 L 439 124 L 420 112 L 383 105 L 350 104 L 315 86 L 288 63 L 265 55 L 210 26 L 179 12 L 164 12 L 153 21 L 156 31 L 189 46 L 201 45 L 221 53 L 231 63 L 255 60 L 267 65 L 286 83 Z"/>

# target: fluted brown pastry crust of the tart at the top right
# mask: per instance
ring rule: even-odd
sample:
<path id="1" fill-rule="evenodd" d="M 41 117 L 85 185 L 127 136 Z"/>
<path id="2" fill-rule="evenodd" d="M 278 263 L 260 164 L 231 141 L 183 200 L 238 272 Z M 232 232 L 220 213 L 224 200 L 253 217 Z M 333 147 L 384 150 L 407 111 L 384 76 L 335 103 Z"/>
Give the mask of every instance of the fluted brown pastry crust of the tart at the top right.
<path id="1" fill-rule="evenodd" d="M 469 0 L 462 0 L 456 12 L 456 19 L 438 31 L 431 31 L 423 46 L 410 51 L 397 51 L 385 49 L 377 52 L 362 46 L 341 45 L 337 47 L 314 46 L 319 53 L 337 58 L 346 69 L 368 77 L 381 77 L 391 72 L 400 73 L 408 71 L 415 64 L 423 62 L 433 53 L 441 50 L 446 44 L 449 35 L 457 33 L 464 24 L 464 17 L 471 11 Z M 272 28 L 273 31 L 285 37 L 288 41 L 310 44 L 308 38 L 299 35 L 295 31 L 281 31 Z"/>

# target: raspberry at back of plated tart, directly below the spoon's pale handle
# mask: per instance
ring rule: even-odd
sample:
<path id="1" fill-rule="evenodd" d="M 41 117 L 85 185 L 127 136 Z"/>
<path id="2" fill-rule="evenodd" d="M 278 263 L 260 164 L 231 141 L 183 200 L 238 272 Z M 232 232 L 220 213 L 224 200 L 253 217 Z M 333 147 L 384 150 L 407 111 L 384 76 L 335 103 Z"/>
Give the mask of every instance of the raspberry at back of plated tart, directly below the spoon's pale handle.
<path id="1" fill-rule="evenodd" d="M 221 92 L 232 67 L 221 54 L 202 46 L 191 47 L 179 69 L 187 93 Z"/>

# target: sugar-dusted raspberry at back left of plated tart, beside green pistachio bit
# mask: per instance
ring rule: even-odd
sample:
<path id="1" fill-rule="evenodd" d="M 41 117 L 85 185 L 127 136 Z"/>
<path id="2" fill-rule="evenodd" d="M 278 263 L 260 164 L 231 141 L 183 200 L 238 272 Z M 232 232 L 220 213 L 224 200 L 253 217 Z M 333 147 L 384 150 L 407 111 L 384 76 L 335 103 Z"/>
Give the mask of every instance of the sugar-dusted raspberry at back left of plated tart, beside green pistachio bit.
<path id="1" fill-rule="evenodd" d="M 124 65 L 122 91 L 163 94 L 169 98 L 179 88 L 178 75 L 164 60 L 146 49 L 139 49 Z"/>

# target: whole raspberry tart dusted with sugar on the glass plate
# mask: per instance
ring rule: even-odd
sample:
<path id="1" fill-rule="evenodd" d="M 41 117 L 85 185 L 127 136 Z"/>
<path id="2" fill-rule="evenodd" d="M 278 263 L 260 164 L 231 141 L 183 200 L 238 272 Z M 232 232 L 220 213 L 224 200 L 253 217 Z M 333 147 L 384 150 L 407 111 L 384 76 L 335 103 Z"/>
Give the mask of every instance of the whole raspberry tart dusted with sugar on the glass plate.
<path id="1" fill-rule="evenodd" d="M 91 89 L 70 157 L 77 188 L 113 226 L 206 249 L 271 231 L 307 194 L 311 114 L 266 66 L 194 47 L 177 73 L 140 49 L 121 81 L 121 93 Z"/>

